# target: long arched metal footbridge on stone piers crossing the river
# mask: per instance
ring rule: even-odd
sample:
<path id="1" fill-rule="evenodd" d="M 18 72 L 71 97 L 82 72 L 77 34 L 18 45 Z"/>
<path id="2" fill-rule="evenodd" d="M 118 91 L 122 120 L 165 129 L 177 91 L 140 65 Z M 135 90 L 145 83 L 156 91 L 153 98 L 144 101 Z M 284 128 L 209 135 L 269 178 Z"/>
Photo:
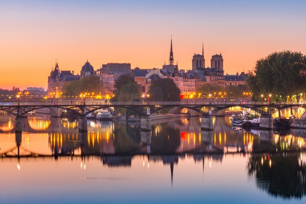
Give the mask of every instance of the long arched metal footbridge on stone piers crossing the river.
<path id="1" fill-rule="evenodd" d="M 87 132 L 87 118 L 89 113 L 93 113 L 99 109 L 106 108 L 124 108 L 137 113 L 141 117 L 141 129 L 151 131 L 150 114 L 158 113 L 158 111 L 169 108 L 186 108 L 196 111 L 202 115 L 201 128 L 213 130 L 212 114 L 217 114 L 222 110 L 231 107 L 242 107 L 251 109 L 261 115 L 260 127 L 265 129 L 273 129 L 272 114 L 283 109 L 293 107 L 306 107 L 306 102 L 253 102 L 253 101 L 149 101 L 149 102 L 109 102 L 101 100 L 92 101 L 50 101 L 50 102 L 0 102 L 0 110 L 11 113 L 16 116 L 15 132 L 21 132 L 21 117 L 27 113 L 39 110 L 50 109 L 54 117 L 60 117 L 63 110 L 67 110 L 79 116 L 79 131 Z M 280 115 L 280 114 L 279 114 Z"/>

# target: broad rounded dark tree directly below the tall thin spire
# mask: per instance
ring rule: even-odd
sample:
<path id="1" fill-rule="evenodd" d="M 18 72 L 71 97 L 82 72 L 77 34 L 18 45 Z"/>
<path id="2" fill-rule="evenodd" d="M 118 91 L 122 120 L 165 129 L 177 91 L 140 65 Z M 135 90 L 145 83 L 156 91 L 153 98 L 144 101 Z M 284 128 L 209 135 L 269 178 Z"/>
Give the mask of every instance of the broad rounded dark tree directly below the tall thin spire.
<path id="1" fill-rule="evenodd" d="M 180 101 L 180 90 L 172 79 L 155 79 L 149 88 L 151 101 Z"/>

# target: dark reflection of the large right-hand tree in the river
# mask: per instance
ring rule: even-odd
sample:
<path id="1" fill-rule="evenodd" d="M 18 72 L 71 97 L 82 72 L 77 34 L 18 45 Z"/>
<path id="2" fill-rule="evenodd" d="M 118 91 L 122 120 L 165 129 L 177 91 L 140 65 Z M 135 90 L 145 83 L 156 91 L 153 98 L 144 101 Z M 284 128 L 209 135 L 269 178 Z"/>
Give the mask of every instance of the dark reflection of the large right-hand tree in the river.
<path id="1" fill-rule="evenodd" d="M 306 195 L 306 163 L 302 153 L 253 155 L 247 166 L 258 188 L 272 196 L 301 199 Z"/>

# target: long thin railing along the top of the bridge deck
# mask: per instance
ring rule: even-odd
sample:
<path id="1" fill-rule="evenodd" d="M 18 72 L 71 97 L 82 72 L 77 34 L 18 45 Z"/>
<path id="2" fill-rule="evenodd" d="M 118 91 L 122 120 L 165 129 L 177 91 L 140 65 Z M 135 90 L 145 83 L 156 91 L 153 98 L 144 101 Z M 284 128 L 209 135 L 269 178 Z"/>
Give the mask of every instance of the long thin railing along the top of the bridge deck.
<path id="1" fill-rule="evenodd" d="M 261 102 L 261 101 L 150 101 L 150 102 L 105 102 L 105 101 L 48 101 L 48 102 L 0 102 L 0 106 L 193 106 L 193 105 L 208 105 L 208 106 L 254 106 L 254 105 L 300 105 L 306 106 L 306 102 Z"/>

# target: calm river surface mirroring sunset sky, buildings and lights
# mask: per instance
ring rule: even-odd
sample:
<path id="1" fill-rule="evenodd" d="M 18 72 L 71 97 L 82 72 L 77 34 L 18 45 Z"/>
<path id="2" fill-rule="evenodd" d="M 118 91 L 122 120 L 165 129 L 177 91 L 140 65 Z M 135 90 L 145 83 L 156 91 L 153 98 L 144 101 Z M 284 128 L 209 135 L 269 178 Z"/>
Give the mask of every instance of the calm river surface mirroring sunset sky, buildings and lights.
<path id="1" fill-rule="evenodd" d="M 232 129 L 217 118 L 119 122 L 0 115 L 0 203 L 305 203 L 304 130 Z"/>

